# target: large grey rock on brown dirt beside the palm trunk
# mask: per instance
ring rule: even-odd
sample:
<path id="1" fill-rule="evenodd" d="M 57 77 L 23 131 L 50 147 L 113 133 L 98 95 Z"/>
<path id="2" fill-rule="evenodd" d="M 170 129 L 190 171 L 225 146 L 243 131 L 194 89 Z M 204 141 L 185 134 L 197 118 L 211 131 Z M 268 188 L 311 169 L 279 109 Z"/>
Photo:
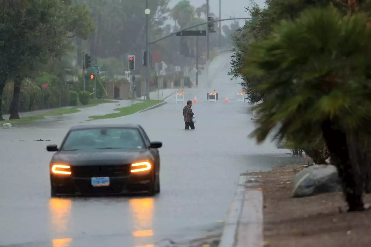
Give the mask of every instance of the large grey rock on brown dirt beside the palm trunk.
<path id="1" fill-rule="evenodd" d="M 294 178 L 293 197 L 342 191 L 338 170 L 333 165 L 312 165 Z"/>

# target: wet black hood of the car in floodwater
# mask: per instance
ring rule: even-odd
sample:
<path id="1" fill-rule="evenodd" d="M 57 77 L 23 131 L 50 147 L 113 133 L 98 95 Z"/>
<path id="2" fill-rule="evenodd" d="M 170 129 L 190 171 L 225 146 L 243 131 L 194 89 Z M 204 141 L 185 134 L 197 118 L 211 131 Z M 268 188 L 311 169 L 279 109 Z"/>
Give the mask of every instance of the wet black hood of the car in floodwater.
<path id="1" fill-rule="evenodd" d="M 123 165 L 143 160 L 153 160 L 147 149 L 98 149 L 94 151 L 61 151 L 53 155 L 52 162 L 68 165 Z"/>

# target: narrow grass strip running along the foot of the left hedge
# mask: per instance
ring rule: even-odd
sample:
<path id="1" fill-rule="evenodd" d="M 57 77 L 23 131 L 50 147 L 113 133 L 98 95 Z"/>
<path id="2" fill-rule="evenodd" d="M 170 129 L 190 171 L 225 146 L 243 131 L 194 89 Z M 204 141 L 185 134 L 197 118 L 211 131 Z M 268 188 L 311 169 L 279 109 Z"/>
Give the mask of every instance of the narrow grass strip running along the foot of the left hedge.
<path id="1" fill-rule="evenodd" d="M 65 109 L 59 109 L 59 110 L 54 110 L 54 111 L 48 111 L 44 112 L 40 115 L 33 115 L 33 116 L 26 116 L 20 119 L 12 119 L 12 120 L 4 120 L 0 121 L 0 124 L 2 125 L 3 123 L 24 123 L 24 122 L 32 122 L 35 120 L 40 120 L 43 119 L 45 116 L 61 116 L 64 114 L 71 114 L 71 113 L 76 113 L 76 112 L 81 112 L 79 108 L 88 108 L 88 107 L 93 107 L 97 106 L 103 103 L 116 103 L 118 101 L 110 101 L 110 100 L 105 100 L 105 99 L 90 99 L 88 105 L 82 105 L 79 104 L 78 106 L 71 107 L 71 108 L 65 108 Z"/>

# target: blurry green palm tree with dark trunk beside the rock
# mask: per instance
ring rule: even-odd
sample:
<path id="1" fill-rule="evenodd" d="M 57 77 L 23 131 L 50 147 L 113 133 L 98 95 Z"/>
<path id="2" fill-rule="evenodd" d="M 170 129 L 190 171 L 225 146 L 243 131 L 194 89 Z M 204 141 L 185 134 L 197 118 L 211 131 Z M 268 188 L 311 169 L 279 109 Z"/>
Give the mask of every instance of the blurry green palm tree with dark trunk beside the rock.
<path id="1" fill-rule="evenodd" d="M 364 174 L 370 174 L 371 29 L 363 14 L 335 8 L 305 10 L 249 45 L 244 76 L 256 86 L 258 143 L 271 132 L 304 141 L 323 136 L 342 180 L 349 211 L 364 210 Z"/>

